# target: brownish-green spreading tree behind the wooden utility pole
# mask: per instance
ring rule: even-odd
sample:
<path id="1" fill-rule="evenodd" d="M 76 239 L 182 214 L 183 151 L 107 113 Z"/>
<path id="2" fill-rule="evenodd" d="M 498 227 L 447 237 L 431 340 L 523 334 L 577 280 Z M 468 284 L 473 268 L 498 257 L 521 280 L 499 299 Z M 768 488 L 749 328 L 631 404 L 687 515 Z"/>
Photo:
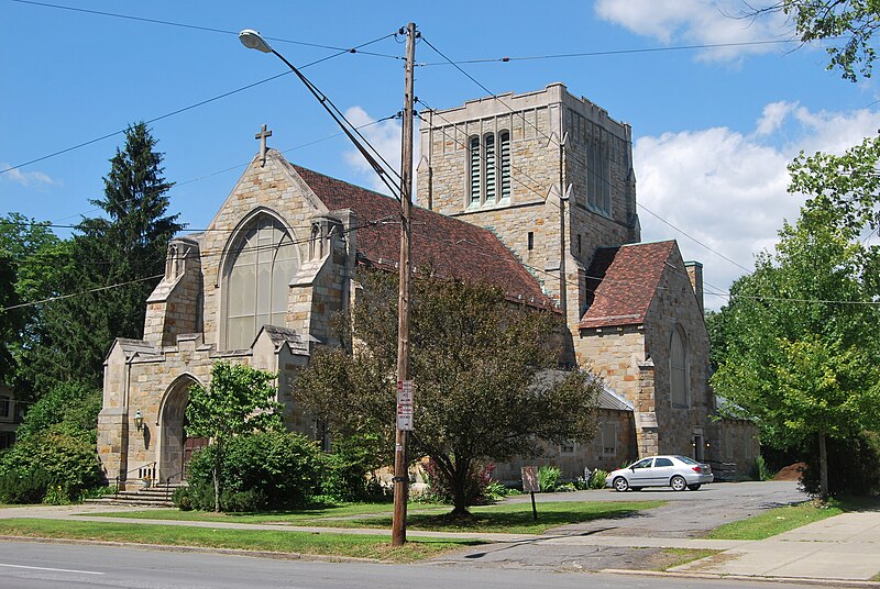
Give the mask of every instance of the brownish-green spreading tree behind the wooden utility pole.
<path id="1" fill-rule="evenodd" d="M 353 309 L 354 354 L 322 348 L 296 399 L 334 433 L 382 433 L 392 451 L 397 358 L 396 279 L 373 273 Z M 413 286 L 413 457 L 430 456 L 465 512 L 481 460 L 540 454 L 541 441 L 588 440 L 601 381 L 558 366 L 564 326 L 512 305 L 492 287 L 421 277 Z"/>

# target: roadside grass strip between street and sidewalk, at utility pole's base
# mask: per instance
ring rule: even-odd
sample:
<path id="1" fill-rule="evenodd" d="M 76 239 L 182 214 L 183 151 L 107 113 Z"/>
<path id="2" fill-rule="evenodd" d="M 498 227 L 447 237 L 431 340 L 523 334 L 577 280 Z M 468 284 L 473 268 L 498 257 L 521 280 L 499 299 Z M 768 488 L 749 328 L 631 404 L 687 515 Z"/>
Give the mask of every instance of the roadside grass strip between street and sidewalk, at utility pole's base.
<path id="1" fill-rule="evenodd" d="M 226 530 L 162 524 L 132 525 L 127 523 L 31 519 L 0 519 L 0 535 L 266 551 L 375 558 L 392 563 L 411 563 L 465 546 L 482 544 L 480 541 L 469 540 L 409 537 L 404 546 L 393 547 L 391 537 L 380 535 L 267 532 L 262 530 Z"/>

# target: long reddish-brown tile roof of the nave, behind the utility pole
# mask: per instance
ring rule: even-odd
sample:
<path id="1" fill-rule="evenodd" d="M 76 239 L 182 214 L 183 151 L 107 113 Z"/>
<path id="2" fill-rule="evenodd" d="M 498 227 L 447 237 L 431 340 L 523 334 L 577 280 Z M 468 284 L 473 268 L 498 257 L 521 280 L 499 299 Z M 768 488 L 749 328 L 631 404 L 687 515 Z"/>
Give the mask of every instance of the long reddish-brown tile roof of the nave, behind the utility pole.
<path id="1" fill-rule="evenodd" d="M 358 253 L 363 258 L 388 269 L 397 266 L 400 259 L 397 200 L 300 166 L 293 167 L 329 210 L 351 209 L 358 215 Z M 491 231 L 415 205 L 411 224 L 414 268 L 428 266 L 440 276 L 501 287 L 512 300 L 553 307 L 537 278 Z"/>

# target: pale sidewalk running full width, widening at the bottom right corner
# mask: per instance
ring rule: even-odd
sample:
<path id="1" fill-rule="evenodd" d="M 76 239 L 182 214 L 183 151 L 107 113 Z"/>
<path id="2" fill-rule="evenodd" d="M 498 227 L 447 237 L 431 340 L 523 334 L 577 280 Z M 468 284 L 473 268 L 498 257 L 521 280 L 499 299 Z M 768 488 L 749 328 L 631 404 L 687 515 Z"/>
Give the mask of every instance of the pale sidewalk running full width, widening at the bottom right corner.
<path id="1" fill-rule="evenodd" d="M 124 512 L 132 508 L 109 505 L 26 507 L 0 510 L 0 518 L 38 518 L 54 520 L 103 521 L 130 524 L 189 525 L 242 530 L 286 530 L 290 532 L 338 532 L 344 534 L 387 535 L 387 530 L 316 527 L 278 524 L 232 522 L 184 522 L 106 518 L 98 512 Z M 138 508 L 142 510 L 143 508 Z M 757 577 L 772 579 L 862 581 L 860 585 L 880 588 L 880 582 L 864 582 L 880 574 L 880 510 L 845 513 L 761 541 L 721 541 L 682 537 L 613 536 L 604 534 L 530 535 L 474 534 L 457 532 L 418 532 L 410 537 L 476 538 L 498 545 L 534 545 L 553 547 L 620 547 L 620 548 L 708 548 L 719 554 L 671 569 L 672 574 L 698 577 Z M 632 573 L 632 571 L 617 571 Z M 638 573 L 636 573 L 638 574 Z"/>

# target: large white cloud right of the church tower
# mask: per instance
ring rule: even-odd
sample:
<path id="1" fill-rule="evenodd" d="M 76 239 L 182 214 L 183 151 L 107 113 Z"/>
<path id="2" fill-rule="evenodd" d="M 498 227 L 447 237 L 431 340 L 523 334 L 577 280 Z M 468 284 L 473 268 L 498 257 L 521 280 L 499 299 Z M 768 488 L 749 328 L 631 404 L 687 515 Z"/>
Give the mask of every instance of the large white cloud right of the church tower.
<path id="1" fill-rule="evenodd" d="M 803 197 L 787 191 L 801 149 L 840 153 L 875 135 L 880 113 L 811 112 L 793 103 L 763 109 L 752 134 L 727 127 L 645 136 L 635 144 L 638 200 L 648 210 L 741 266 L 772 249 L 783 220 L 795 221 Z M 781 142 L 780 136 L 796 135 Z M 704 263 L 706 282 L 726 291 L 745 270 L 639 211 L 644 241 L 675 237 L 685 259 Z M 707 287 L 707 290 L 712 290 Z M 726 301 L 706 297 L 706 305 Z"/>

